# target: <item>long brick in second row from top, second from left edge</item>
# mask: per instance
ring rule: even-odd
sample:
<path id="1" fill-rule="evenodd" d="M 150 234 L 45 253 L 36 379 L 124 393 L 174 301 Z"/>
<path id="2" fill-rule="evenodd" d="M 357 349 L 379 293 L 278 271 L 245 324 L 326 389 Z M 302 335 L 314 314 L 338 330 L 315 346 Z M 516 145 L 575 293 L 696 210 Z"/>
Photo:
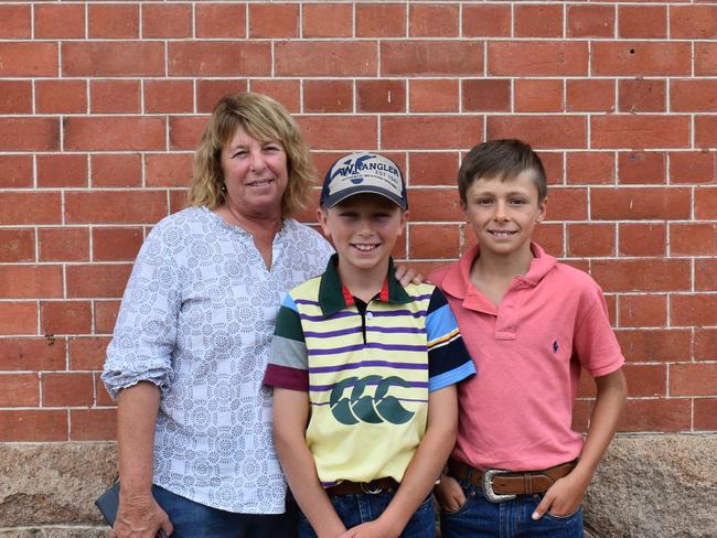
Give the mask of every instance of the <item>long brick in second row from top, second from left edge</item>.
<path id="1" fill-rule="evenodd" d="M 156 41 L 86 41 L 62 45 L 63 76 L 164 75 L 164 44 Z"/>

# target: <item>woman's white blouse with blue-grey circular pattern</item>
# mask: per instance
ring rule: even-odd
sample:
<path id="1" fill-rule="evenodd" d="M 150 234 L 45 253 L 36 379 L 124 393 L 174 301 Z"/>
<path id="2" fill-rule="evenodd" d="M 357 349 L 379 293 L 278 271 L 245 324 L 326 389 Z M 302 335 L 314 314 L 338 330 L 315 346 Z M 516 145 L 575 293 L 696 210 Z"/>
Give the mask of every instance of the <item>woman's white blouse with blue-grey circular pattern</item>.
<path id="1" fill-rule="evenodd" d="M 161 389 L 154 484 L 206 506 L 280 514 L 286 483 L 261 384 L 288 290 L 320 275 L 331 246 L 285 219 L 266 269 L 252 236 L 205 207 L 163 218 L 127 283 L 103 381 Z"/>

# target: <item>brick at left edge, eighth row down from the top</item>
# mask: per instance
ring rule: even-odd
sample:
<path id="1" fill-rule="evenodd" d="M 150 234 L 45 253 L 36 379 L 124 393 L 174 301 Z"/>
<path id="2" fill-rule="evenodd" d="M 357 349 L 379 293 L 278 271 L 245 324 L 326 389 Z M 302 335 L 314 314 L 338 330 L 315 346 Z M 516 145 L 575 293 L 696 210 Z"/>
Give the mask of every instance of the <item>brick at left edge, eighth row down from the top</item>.
<path id="1" fill-rule="evenodd" d="M 0 297 L 6 299 L 62 297 L 62 267 L 0 266 Z"/>

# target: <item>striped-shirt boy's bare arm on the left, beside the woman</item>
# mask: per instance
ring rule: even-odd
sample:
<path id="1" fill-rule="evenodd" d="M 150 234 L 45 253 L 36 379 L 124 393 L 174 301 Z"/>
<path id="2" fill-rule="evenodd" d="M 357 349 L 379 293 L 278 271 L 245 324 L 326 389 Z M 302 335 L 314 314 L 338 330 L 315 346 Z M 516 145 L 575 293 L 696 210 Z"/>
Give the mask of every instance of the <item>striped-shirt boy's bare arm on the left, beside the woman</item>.
<path id="1" fill-rule="evenodd" d="M 291 493 L 319 538 L 346 530 L 319 483 L 313 455 L 306 441 L 309 395 L 274 388 L 274 442 Z"/>

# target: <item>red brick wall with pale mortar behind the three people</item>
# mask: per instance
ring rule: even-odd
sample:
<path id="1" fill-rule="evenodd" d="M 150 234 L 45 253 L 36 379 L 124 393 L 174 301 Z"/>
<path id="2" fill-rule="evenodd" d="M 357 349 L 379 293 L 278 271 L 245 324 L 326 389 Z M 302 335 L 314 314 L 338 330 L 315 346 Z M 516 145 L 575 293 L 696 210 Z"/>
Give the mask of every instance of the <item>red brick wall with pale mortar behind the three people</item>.
<path id="1" fill-rule="evenodd" d="M 716 4 L 659 0 L 0 3 L 0 441 L 114 437 L 98 373 L 132 260 L 244 89 L 297 116 L 320 168 L 405 166 L 397 254 L 424 271 L 472 244 L 461 153 L 529 141 L 538 240 L 600 282 L 628 357 L 622 429 L 717 430 L 715 37 Z"/>

